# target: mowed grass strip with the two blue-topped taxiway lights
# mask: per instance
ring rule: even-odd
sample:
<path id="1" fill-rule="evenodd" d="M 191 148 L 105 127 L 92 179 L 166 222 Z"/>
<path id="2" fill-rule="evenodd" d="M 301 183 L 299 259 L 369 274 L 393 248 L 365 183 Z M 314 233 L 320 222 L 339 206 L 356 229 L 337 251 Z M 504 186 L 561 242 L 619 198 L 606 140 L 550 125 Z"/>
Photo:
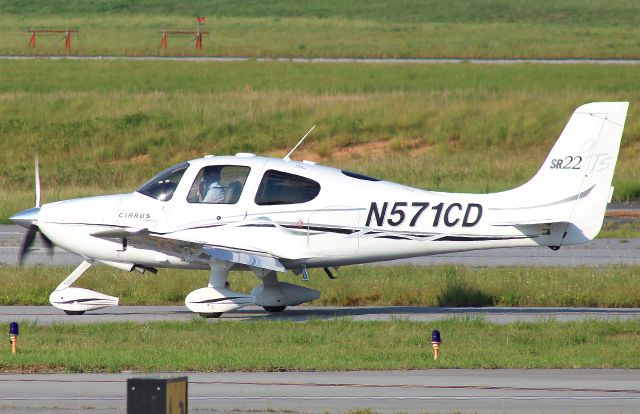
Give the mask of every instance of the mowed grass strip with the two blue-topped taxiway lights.
<path id="1" fill-rule="evenodd" d="M 442 333 L 433 360 L 431 330 Z M 638 368 L 640 321 L 23 323 L 2 372 Z"/>

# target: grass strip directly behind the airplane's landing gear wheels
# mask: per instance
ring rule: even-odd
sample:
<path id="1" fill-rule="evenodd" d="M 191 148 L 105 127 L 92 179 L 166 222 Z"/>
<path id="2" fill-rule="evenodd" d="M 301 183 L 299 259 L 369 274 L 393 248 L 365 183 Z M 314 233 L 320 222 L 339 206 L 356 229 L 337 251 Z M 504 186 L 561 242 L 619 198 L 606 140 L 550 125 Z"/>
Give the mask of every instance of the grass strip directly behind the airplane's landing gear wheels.
<path id="1" fill-rule="evenodd" d="M 71 267 L 0 267 L 0 305 L 48 305 L 49 294 Z M 332 306 L 578 306 L 640 307 L 638 267 L 470 268 L 462 266 L 351 266 L 330 280 L 311 270 L 303 282 L 293 274 L 279 279 L 321 292 L 311 305 Z M 206 286 L 206 271 L 161 270 L 157 275 L 91 268 L 74 286 L 120 297 L 122 305 L 183 305 L 192 290 Z M 231 289 L 249 293 L 259 281 L 250 272 L 232 272 Z"/>

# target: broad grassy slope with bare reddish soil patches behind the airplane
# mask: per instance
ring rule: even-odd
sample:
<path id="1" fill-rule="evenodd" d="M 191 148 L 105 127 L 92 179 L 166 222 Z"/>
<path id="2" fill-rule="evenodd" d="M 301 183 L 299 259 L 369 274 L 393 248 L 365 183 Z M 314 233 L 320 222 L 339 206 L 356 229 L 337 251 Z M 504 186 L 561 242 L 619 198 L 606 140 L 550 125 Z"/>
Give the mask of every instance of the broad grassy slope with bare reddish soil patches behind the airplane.
<path id="1" fill-rule="evenodd" d="M 43 200 L 133 191 L 204 154 L 283 156 L 442 191 L 527 181 L 573 110 L 631 101 L 615 201 L 640 194 L 633 66 L 6 61 L 0 218 Z"/>

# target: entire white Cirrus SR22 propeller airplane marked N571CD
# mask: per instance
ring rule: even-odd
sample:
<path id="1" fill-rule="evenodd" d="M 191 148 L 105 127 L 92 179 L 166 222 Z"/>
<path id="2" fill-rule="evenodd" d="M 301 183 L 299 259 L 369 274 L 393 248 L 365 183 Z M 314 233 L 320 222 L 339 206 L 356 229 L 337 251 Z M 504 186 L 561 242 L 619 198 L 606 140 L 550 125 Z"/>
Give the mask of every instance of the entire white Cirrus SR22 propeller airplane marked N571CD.
<path id="1" fill-rule="evenodd" d="M 130 194 L 40 206 L 36 162 L 36 207 L 11 220 L 29 229 L 21 262 L 37 233 L 49 248 L 85 258 L 49 298 L 69 314 L 118 304 L 71 287 L 95 262 L 126 271 L 210 270 L 208 286 L 185 299 L 205 317 L 253 304 L 280 312 L 320 292 L 279 282 L 278 272 L 308 279 L 307 269 L 324 268 L 333 278 L 330 268 L 350 264 L 498 247 L 557 250 L 592 240 L 611 198 L 627 108 L 579 107 L 538 173 L 493 194 L 411 188 L 294 161 L 291 153 L 240 153 L 178 164 Z M 262 283 L 249 295 L 234 292 L 230 270 L 251 270 Z"/>

